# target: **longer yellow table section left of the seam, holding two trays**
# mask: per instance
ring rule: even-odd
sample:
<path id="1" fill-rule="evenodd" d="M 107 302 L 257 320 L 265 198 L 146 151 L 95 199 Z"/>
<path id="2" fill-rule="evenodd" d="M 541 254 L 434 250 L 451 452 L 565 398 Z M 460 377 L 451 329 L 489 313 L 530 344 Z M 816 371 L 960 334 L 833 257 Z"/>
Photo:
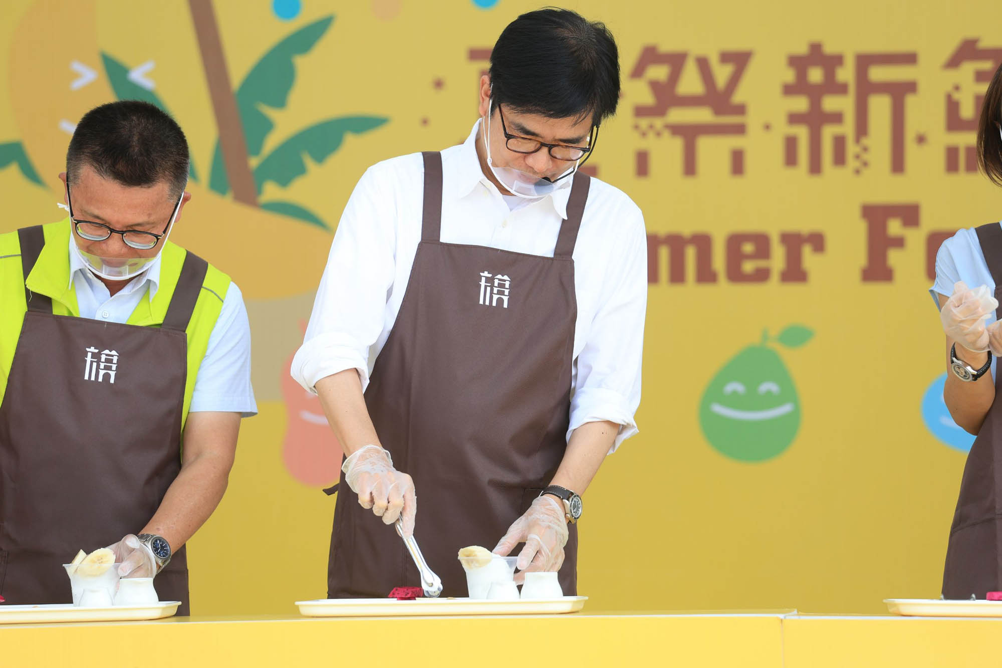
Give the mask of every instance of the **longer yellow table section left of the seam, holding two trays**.
<path id="1" fill-rule="evenodd" d="M 782 614 L 169 618 L 0 627 L 3 666 L 781 665 Z M 157 655 L 158 658 L 157 658 Z M 150 664 L 127 663 L 148 656 Z M 677 662 L 677 663 L 675 663 Z"/>

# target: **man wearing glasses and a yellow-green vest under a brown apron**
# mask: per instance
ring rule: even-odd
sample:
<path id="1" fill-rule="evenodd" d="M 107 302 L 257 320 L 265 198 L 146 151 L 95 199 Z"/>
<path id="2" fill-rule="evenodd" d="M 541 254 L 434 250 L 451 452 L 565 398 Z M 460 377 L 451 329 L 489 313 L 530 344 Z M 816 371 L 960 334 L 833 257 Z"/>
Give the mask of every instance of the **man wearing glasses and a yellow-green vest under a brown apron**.
<path id="1" fill-rule="evenodd" d="M 69 217 L 0 235 L 0 596 L 69 603 L 61 565 L 108 546 L 188 614 L 182 546 L 257 412 L 229 277 L 167 241 L 190 199 L 167 114 L 98 106 L 66 154 Z"/>

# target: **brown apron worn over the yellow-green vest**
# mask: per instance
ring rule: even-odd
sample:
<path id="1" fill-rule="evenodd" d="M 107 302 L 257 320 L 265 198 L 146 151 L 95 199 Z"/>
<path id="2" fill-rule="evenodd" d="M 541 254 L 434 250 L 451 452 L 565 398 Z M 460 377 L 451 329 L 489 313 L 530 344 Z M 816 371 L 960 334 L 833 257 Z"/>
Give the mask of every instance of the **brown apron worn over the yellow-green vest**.
<path id="1" fill-rule="evenodd" d="M 41 227 L 18 231 L 27 279 Z M 0 404 L 0 595 L 9 604 L 69 603 L 62 568 L 138 533 L 180 470 L 187 374 L 184 333 L 207 265 L 188 253 L 160 327 L 28 310 Z M 6 568 L 5 568 L 6 563 Z M 154 582 L 188 614 L 181 548 Z"/>

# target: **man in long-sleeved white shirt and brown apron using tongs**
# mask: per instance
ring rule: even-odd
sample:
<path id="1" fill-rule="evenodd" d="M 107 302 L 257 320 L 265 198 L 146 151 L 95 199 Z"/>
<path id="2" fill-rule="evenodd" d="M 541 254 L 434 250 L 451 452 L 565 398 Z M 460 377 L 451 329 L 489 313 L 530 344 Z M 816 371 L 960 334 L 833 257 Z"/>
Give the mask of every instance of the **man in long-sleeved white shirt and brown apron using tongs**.
<path id="1" fill-rule="evenodd" d="M 522 543 L 520 571 L 576 592 L 581 494 L 640 399 L 643 218 L 579 170 L 618 96 L 604 25 L 530 12 L 494 46 L 465 143 L 359 182 L 292 369 L 348 454 L 329 597 L 420 582 L 398 520 L 443 596 L 465 596 L 459 549 Z"/>

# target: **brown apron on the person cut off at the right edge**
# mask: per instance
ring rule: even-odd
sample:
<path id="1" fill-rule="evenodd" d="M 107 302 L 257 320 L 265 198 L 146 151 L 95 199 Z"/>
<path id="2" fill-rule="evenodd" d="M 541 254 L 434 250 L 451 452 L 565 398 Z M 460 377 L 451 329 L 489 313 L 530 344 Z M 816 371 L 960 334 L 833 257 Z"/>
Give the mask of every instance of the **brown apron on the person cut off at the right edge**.
<path id="1" fill-rule="evenodd" d="M 981 252 L 995 280 L 996 317 L 1002 320 L 1002 227 L 977 229 Z M 943 598 L 984 599 L 1002 590 L 1002 368 L 995 401 L 964 465 L 943 569 Z"/>

